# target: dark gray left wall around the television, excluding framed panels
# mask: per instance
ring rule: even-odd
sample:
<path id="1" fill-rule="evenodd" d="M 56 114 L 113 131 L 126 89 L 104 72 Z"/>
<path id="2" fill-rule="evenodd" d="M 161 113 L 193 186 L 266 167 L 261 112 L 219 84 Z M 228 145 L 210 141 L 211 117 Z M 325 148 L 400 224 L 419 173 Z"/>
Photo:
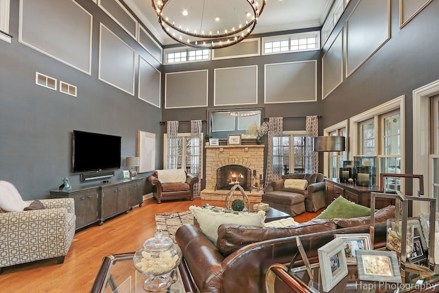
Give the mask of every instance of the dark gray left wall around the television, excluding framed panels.
<path id="1" fill-rule="evenodd" d="M 99 182 L 80 183 L 79 174 L 71 173 L 73 130 L 121 136 L 121 169 L 129 169 L 126 156 L 137 154 L 138 130 L 156 133 L 156 164 L 163 156 L 161 110 L 137 98 L 138 56 L 147 52 L 93 1 L 77 2 L 93 14 L 91 75 L 19 43 L 19 1 L 11 1 L 12 43 L 0 41 L 0 180 L 13 183 L 25 200 L 47 198 L 66 176 L 73 187 Z M 134 96 L 97 78 L 99 22 L 136 51 Z M 36 71 L 78 86 L 78 97 L 37 86 Z M 117 170 L 115 178 L 121 173 Z"/>

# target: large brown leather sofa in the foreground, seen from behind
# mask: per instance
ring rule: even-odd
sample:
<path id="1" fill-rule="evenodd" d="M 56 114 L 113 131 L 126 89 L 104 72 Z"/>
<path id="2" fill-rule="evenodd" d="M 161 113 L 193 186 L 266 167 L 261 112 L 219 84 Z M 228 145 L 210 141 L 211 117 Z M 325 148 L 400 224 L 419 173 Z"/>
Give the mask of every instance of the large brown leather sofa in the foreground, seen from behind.
<path id="1" fill-rule="evenodd" d="M 385 220 L 394 217 L 394 207 L 377 213 L 374 247 L 380 248 L 385 246 Z M 191 292 L 197 292 L 197 288 L 198 292 L 265 292 L 265 273 L 273 263 L 288 266 L 298 251 L 296 237 L 300 237 L 310 261 L 316 262 L 318 248 L 330 242 L 335 234 L 369 233 L 369 218 L 314 220 L 294 228 L 222 224 L 216 246 L 198 226 L 186 224 L 176 233 L 176 242 L 183 253 L 180 273 L 187 280 L 186 290 Z M 299 265 L 302 265 L 300 256 L 296 261 L 296 266 Z"/>

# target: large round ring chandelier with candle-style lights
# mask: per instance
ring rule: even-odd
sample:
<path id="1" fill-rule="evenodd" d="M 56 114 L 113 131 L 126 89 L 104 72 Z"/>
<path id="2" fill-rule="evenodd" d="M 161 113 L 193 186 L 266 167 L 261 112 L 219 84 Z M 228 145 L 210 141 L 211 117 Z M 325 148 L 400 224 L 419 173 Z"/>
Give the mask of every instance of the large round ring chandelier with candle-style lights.
<path id="1" fill-rule="evenodd" d="M 163 30 L 198 49 L 235 45 L 254 30 L 266 0 L 152 0 Z M 218 4 L 219 3 L 219 4 Z"/>

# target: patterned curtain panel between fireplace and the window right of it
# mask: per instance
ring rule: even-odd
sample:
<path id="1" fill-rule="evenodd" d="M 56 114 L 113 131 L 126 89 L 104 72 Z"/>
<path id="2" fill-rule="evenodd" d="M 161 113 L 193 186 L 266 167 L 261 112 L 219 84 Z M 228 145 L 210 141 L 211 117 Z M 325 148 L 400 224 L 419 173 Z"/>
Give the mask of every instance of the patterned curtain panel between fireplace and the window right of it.
<path id="1" fill-rule="evenodd" d="M 283 167 L 283 117 L 270 117 L 268 119 L 268 125 L 270 131 L 268 132 L 267 174 L 265 176 L 264 189 L 267 188 L 272 181 L 282 179 Z"/>

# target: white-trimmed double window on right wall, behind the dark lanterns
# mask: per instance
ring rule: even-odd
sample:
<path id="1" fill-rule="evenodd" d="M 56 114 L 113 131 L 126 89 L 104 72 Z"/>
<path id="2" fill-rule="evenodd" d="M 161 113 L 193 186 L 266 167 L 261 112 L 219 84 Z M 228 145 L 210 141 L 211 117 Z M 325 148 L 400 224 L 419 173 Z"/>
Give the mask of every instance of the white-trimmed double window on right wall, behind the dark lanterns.
<path id="1" fill-rule="evenodd" d="M 404 190 L 403 180 L 388 178 L 385 183 L 379 183 L 379 174 L 400 174 L 405 171 L 404 141 L 405 125 L 404 96 L 351 117 L 351 134 L 353 156 L 377 157 L 377 185 L 384 185 L 386 191 Z M 373 171 L 372 171 L 373 172 Z M 375 176 L 375 174 L 372 174 Z"/>

